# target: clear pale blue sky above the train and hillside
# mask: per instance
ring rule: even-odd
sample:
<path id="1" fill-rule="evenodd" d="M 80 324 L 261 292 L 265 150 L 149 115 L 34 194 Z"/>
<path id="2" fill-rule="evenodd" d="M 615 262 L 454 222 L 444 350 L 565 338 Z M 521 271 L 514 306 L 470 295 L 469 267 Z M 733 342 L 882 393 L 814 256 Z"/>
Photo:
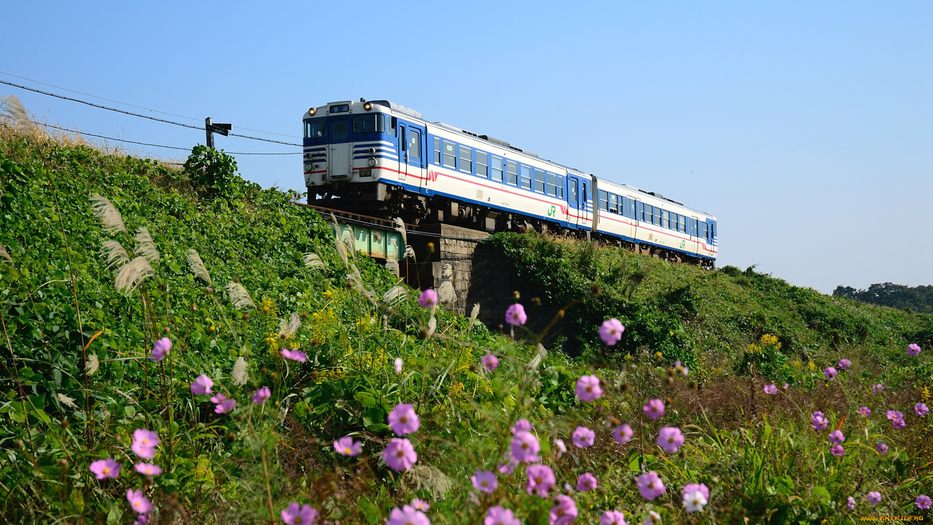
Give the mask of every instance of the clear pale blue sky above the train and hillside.
<path id="1" fill-rule="evenodd" d="M 933 284 L 933 4 L 768 4 L 16 2 L 0 71 L 247 134 L 386 98 L 716 215 L 719 265 L 820 291 Z M 89 133 L 204 140 L 10 93 Z M 303 191 L 297 155 L 238 162 Z"/>

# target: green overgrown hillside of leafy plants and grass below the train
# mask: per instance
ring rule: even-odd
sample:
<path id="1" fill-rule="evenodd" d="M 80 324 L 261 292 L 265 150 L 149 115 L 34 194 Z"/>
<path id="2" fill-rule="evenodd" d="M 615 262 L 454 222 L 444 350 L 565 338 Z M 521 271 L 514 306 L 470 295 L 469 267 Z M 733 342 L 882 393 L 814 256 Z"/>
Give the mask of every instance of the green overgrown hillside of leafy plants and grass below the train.
<path id="1" fill-rule="evenodd" d="M 569 357 L 537 347 L 521 326 L 512 340 L 443 305 L 422 307 L 419 291 L 342 251 L 324 218 L 292 204 L 298 195 L 262 190 L 235 169 L 202 148 L 179 170 L 0 125 L 0 520 L 129 524 L 141 497 L 151 523 L 281 523 L 293 502 L 313 506 L 318 523 L 404 523 L 394 521 L 402 511 L 423 523 L 404 508 L 413 498 L 430 505 L 425 519 L 464 524 L 498 506 L 527 524 L 598 522 L 616 509 L 629 523 L 651 513 L 775 524 L 922 514 L 914 499 L 933 490 L 933 451 L 912 406 L 929 403 L 928 316 L 753 269 L 704 272 L 577 241 L 494 236 L 489 246 L 545 302 L 578 301 L 564 319 L 582 351 Z M 95 216 L 94 195 L 109 199 L 126 233 L 107 231 L 115 216 Z M 118 291 L 131 265 L 143 269 L 141 285 Z M 521 301 L 531 316 L 543 311 Z M 596 329 L 612 317 L 626 331 L 606 347 Z M 160 337 L 172 348 L 151 361 Z M 924 349 L 908 356 L 914 342 Z M 488 354 L 494 370 L 480 362 Z M 852 368 L 821 380 L 842 358 Z M 603 394 L 584 401 L 575 384 L 589 374 Z M 189 384 L 202 375 L 236 406 L 218 411 L 223 400 L 196 395 Z M 790 386 L 766 395 L 771 380 Z M 878 383 L 886 390 L 872 392 Z M 260 387 L 269 400 L 254 403 Z M 652 399 L 665 406 L 660 419 L 642 410 Z M 387 424 L 397 403 L 413 404 L 416 432 Z M 906 428 L 892 427 L 888 409 Z M 815 410 L 847 436 L 842 456 L 830 453 L 831 429 L 811 428 Z M 531 465 L 499 468 L 520 419 L 540 447 L 544 466 L 534 468 L 554 475 L 542 494 L 527 490 Z M 632 441 L 613 440 L 620 423 Z M 592 445 L 574 445 L 579 427 L 592 429 Z M 661 427 L 685 443 L 662 450 Z M 160 446 L 141 447 L 138 429 L 158 433 Z M 360 454 L 337 453 L 344 436 Z M 411 468 L 383 460 L 393 439 L 409 440 Z M 98 479 L 91 463 L 108 458 L 122 470 Z M 141 461 L 162 474 L 136 472 Z M 497 489 L 475 488 L 470 477 L 484 470 Z M 585 473 L 595 490 L 578 489 Z M 666 488 L 650 500 L 638 485 L 649 473 Z M 708 502 L 688 513 L 680 492 L 696 483 Z M 551 518 L 557 509 L 564 515 Z"/>

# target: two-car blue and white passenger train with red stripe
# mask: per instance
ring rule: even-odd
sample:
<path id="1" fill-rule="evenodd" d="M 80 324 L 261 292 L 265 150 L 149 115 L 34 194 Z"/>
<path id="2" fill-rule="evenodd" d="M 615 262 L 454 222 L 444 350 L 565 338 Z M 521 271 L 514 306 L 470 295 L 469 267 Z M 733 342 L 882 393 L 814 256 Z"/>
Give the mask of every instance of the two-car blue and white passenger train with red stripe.
<path id="1" fill-rule="evenodd" d="M 716 263 L 711 215 L 386 100 L 309 109 L 304 178 L 312 205 L 488 232 L 586 234 L 667 260 Z"/>

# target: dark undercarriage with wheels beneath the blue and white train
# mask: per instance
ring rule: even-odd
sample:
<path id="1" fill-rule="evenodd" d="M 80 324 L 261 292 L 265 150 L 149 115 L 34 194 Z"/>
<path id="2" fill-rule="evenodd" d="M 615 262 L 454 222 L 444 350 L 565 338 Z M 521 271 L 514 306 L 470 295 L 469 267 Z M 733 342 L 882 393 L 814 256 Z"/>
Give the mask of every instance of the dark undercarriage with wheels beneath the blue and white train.
<path id="1" fill-rule="evenodd" d="M 667 262 L 696 264 L 703 269 L 710 270 L 716 268 L 715 261 L 693 257 L 674 249 L 634 243 L 612 235 L 581 232 L 548 220 L 503 212 L 439 195 L 416 195 L 383 182 L 333 182 L 327 186 L 308 188 L 308 204 L 366 214 L 385 220 L 398 217 L 409 224 L 450 224 L 490 234 L 535 230 L 542 234 L 587 238 Z"/>

